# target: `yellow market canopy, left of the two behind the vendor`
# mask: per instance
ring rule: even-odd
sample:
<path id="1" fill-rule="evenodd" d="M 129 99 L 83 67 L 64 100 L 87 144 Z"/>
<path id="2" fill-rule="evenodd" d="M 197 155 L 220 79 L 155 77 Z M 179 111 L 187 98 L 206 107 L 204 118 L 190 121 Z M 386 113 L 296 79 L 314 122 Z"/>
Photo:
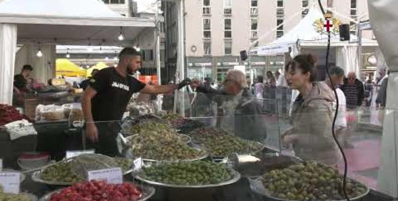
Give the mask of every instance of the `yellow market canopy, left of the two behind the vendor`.
<path id="1" fill-rule="evenodd" d="M 86 70 L 81 69 L 69 59 L 57 59 L 55 67 L 55 75 L 57 77 L 85 77 Z"/>

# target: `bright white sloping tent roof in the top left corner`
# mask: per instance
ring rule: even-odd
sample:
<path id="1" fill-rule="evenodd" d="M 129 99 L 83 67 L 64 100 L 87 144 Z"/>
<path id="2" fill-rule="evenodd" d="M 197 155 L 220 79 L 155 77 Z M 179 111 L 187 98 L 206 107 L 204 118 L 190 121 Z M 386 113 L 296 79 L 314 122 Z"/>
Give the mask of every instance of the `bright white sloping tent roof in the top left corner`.
<path id="1" fill-rule="evenodd" d="M 120 17 L 98 0 L 4 0 L 0 6 L 0 13 L 90 18 Z"/>

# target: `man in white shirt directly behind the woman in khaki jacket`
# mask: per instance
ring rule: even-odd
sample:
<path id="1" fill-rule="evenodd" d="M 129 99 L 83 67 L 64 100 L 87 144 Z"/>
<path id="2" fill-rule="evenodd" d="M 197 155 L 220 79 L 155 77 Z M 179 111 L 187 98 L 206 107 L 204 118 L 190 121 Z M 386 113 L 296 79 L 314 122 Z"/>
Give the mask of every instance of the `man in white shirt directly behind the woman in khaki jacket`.
<path id="1" fill-rule="evenodd" d="M 339 100 L 339 113 L 336 119 L 336 124 L 335 124 L 335 131 L 336 135 L 339 138 L 339 141 L 343 144 L 346 143 L 346 139 L 344 139 L 346 130 L 347 130 L 347 119 L 346 119 L 346 96 L 344 95 L 344 92 L 338 87 L 343 83 L 344 79 L 344 70 L 339 67 L 339 66 L 334 66 L 329 69 L 330 73 L 330 78 L 326 78 L 325 82 L 326 84 L 333 89 L 332 83 L 336 87 L 336 92 L 337 92 L 337 98 Z M 337 109 L 337 102 L 333 103 L 333 109 L 336 111 Z"/>

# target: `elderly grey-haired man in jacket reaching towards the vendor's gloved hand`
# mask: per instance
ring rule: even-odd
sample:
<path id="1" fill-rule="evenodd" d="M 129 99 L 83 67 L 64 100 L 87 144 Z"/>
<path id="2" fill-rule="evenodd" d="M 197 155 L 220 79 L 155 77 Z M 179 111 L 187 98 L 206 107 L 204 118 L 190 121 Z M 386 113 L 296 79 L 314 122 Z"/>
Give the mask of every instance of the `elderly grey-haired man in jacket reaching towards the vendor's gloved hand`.
<path id="1" fill-rule="evenodd" d="M 261 118 L 261 106 L 249 92 L 246 75 L 239 70 L 229 70 L 225 88 L 215 90 L 192 81 L 192 87 L 207 94 L 217 103 L 217 126 L 248 140 L 263 141 L 267 137 L 266 127 Z"/>

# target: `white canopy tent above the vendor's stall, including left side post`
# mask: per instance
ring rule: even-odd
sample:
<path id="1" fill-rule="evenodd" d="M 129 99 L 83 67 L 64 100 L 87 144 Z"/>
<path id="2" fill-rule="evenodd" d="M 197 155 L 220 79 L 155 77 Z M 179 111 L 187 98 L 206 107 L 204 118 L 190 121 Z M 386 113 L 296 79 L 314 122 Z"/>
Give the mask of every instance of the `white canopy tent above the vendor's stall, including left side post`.
<path id="1" fill-rule="evenodd" d="M 119 16 L 98 0 L 5 0 L 0 3 L 0 103 L 12 103 L 17 44 L 132 46 L 140 36 L 153 38 L 154 30 L 153 20 Z"/>

